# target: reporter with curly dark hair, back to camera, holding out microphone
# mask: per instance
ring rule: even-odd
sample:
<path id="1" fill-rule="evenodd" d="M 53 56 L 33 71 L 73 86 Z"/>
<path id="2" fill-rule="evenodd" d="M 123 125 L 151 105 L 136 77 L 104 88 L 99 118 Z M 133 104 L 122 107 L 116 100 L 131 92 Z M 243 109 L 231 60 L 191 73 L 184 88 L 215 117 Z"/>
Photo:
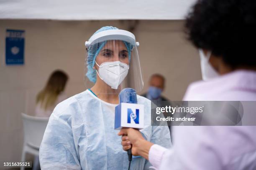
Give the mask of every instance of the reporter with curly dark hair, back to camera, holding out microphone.
<path id="1" fill-rule="evenodd" d="M 183 100 L 256 101 L 256 1 L 198 0 L 186 29 L 205 81 L 192 83 Z M 170 150 L 132 128 L 119 135 L 124 150 L 132 144 L 157 170 L 256 170 L 256 126 L 174 126 Z"/>

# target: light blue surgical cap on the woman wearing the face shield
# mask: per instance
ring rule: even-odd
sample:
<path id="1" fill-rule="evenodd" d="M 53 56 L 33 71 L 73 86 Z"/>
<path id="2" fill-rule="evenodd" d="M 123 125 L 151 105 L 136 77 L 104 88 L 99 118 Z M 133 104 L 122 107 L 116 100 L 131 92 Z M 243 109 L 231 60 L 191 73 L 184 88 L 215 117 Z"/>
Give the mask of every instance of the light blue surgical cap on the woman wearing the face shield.
<path id="1" fill-rule="evenodd" d="M 99 30 L 97 30 L 93 35 L 95 35 L 98 32 L 105 31 L 105 30 L 118 30 L 118 28 L 112 27 L 112 26 L 105 26 L 105 27 L 102 27 Z M 132 45 L 129 42 L 125 42 L 125 41 L 123 41 L 123 42 L 128 50 L 129 60 L 131 60 Z M 88 77 L 88 79 L 91 82 L 94 82 L 94 83 L 96 82 L 96 70 L 93 69 L 93 66 L 95 65 L 95 59 L 96 59 L 97 55 L 99 54 L 100 50 L 102 49 L 102 47 L 105 46 L 106 43 L 107 43 L 107 41 L 99 42 L 99 43 L 96 43 L 88 48 L 87 62 L 86 62 L 86 64 L 87 64 L 86 76 Z"/>

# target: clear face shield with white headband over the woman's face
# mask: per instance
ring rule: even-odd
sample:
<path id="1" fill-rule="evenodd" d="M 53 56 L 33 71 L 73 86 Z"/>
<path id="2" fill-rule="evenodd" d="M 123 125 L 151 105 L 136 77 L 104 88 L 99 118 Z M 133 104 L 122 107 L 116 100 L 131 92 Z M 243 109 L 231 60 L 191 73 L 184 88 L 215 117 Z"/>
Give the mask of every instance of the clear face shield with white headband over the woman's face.
<path id="1" fill-rule="evenodd" d="M 138 42 L 125 30 L 98 32 L 85 42 L 87 47 L 85 87 L 96 95 L 119 94 L 130 87 L 140 92 L 143 79 Z"/>

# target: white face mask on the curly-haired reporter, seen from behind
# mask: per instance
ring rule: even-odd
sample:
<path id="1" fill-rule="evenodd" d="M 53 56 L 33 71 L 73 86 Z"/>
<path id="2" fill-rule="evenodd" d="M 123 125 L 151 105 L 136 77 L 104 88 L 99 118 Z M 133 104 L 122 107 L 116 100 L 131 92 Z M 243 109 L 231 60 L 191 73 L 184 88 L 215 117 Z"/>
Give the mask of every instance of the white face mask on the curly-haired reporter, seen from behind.
<path id="1" fill-rule="evenodd" d="M 209 62 L 211 54 L 212 52 L 208 51 L 207 55 L 205 56 L 204 51 L 202 49 L 199 49 L 202 80 L 209 80 L 211 78 L 219 76 L 219 73 L 212 67 L 212 65 Z"/>

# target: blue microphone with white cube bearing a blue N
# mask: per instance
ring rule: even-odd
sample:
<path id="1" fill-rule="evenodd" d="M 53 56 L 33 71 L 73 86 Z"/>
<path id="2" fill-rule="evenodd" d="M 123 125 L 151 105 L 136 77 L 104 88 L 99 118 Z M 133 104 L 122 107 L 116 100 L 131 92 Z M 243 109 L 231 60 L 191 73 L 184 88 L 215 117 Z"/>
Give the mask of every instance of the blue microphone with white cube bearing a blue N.
<path id="1" fill-rule="evenodd" d="M 137 104 L 137 94 L 132 88 L 125 88 L 119 94 L 119 105 L 115 107 L 115 130 L 121 128 L 142 129 L 144 126 L 144 105 Z M 131 149 L 127 150 L 130 164 Z"/>

